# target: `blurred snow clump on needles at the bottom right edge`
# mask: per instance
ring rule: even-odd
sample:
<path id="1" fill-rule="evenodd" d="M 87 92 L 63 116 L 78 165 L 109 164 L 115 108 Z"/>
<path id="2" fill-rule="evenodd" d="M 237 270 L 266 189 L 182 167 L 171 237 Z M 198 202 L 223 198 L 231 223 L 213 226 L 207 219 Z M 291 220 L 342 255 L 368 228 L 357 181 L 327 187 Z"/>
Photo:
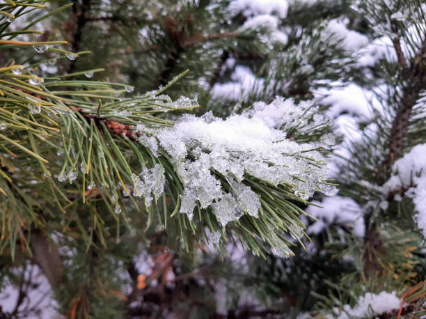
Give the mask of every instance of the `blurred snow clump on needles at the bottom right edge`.
<path id="1" fill-rule="evenodd" d="M 351 308 L 349 304 L 345 304 L 343 309 L 333 309 L 338 313 L 338 319 L 352 319 L 352 318 L 374 318 L 374 316 L 381 315 L 390 311 L 400 309 L 401 299 L 396 296 L 395 291 L 387 293 L 382 291 L 379 294 L 366 293 L 361 296 L 354 307 Z M 329 318 L 332 318 L 329 316 Z M 336 317 L 333 317 L 336 318 Z"/>

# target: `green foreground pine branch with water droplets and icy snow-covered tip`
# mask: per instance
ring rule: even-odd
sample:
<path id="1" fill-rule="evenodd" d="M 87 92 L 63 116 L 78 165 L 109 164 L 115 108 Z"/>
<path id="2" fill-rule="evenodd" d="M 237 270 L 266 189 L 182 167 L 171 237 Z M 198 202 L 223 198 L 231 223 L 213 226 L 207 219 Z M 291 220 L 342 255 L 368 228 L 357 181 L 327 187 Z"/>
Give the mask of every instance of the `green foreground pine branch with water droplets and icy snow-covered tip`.
<path id="1" fill-rule="evenodd" d="M 62 43 L 7 45 L 34 48 L 36 54 L 57 52 L 49 60 L 85 53 L 53 47 Z M 100 208 L 90 210 L 90 235 L 80 228 L 88 247 L 94 233 L 102 242 L 104 219 L 129 225 L 129 216 L 139 210 L 148 215 L 147 228 L 164 225 L 187 250 L 200 237 L 210 241 L 207 227 L 221 247 L 228 236 L 255 254 L 271 250 L 289 256 L 285 235 L 301 242 L 304 229 L 297 203 L 306 204 L 315 191 L 336 192 L 321 153 L 329 143 L 327 137 L 322 141 L 329 123 L 313 104 L 276 98 L 225 120 L 208 113 L 173 123 L 169 111 L 198 107 L 196 99 L 173 101 L 164 94 L 184 74 L 157 91 L 127 98 L 120 97 L 133 91 L 126 84 L 66 80 L 90 78 L 100 69 L 43 78 L 36 66 L 47 61 L 36 58 L 39 62 L 29 66 L 12 61 L 0 75 L 8 97 L 0 115 L 0 210 L 8 220 L 3 249 L 12 256 L 23 228 L 31 232 L 49 225 L 58 211 L 79 224 L 79 210 L 94 203 Z M 310 134 L 313 142 L 304 143 Z M 55 218 L 49 231 L 58 230 Z M 62 219 L 61 227 L 68 222 Z M 224 234 L 219 241 L 218 233 Z"/>

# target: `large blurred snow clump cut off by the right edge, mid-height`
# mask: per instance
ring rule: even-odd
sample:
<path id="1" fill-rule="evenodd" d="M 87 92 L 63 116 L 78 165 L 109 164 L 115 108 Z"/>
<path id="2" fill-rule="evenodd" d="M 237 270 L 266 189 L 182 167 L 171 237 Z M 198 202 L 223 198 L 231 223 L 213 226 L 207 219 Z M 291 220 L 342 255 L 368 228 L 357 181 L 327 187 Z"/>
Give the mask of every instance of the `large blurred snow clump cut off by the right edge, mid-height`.
<path id="1" fill-rule="evenodd" d="M 411 148 L 409 153 L 393 164 L 393 175 L 383 185 L 384 193 L 395 192 L 399 189 L 409 190 L 406 196 L 413 199 L 417 214 L 418 228 L 426 237 L 426 143 Z"/>

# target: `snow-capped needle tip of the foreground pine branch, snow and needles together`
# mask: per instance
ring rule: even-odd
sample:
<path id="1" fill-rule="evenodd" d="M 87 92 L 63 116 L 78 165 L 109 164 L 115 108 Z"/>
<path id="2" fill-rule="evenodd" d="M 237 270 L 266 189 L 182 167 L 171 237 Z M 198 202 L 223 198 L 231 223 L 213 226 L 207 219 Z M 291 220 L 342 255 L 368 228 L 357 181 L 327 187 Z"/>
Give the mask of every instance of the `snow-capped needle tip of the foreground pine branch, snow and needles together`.
<path id="1" fill-rule="evenodd" d="M 256 254 L 264 247 L 248 235 L 258 234 L 276 254 L 289 256 L 282 234 L 300 239 L 304 228 L 296 217 L 302 211 L 293 202 L 304 203 L 315 191 L 333 195 L 336 187 L 327 182 L 326 162 L 319 153 L 322 144 L 297 143 L 287 138 L 287 132 L 308 134 L 326 124 L 313 105 L 276 98 L 225 120 L 211 113 L 184 115 L 173 127 L 141 126 L 139 132 L 155 136 L 158 145 L 150 145 L 152 153 L 160 150 L 170 159 L 176 179 L 182 182 L 175 212 L 179 209 L 187 222 L 201 222 L 210 233 L 227 230 Z M 154 169 L 152 180 L 164 180 L 159 166 Z M 145 196 L 147 205 L 152 189 L 149 174 L 133 175 L 134 195 Z M 166 172 L 168 182 L 176 182 L 173 178 Z M 233 227 L 227 228 L 232 221 Z"/>

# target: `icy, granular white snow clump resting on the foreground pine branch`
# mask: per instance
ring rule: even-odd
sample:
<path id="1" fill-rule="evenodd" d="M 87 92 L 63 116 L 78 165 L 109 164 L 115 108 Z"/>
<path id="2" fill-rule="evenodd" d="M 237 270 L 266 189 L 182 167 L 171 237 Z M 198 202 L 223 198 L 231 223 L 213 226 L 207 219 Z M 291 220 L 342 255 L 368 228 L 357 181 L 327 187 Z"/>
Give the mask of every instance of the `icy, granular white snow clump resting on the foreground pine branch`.
<path id="1" fill-rule="evenodd" d="M 322 116 L 309 112 L 315 107 L 276 98 L 271 104 L 258 102 L 253 109 L 226 120 L 207 113 L 202 117 L 185 115 L 173 127 L 157 133 L 160 146 L 173 158 L 184 184 L 180 212 L 191 219 L 196 203 L 211 207 L 225 226 L 246 213 L 257 216 L 260 201 L 244 183 L 244 174 L 273 185 L 292 185 L 295 195 L 308 199 L 316 189 L 336 194 L 324 185 L 327 179 L 324 158 L 309 143 L 299 144 L 286 138 L 288 127 L 324 123 Z M 302 116 L 304 114 L 304 116 Z M 315 165 L 313 165 L 315 164 Z M 228 192 L 218 175 L 228 178 Z"/>

